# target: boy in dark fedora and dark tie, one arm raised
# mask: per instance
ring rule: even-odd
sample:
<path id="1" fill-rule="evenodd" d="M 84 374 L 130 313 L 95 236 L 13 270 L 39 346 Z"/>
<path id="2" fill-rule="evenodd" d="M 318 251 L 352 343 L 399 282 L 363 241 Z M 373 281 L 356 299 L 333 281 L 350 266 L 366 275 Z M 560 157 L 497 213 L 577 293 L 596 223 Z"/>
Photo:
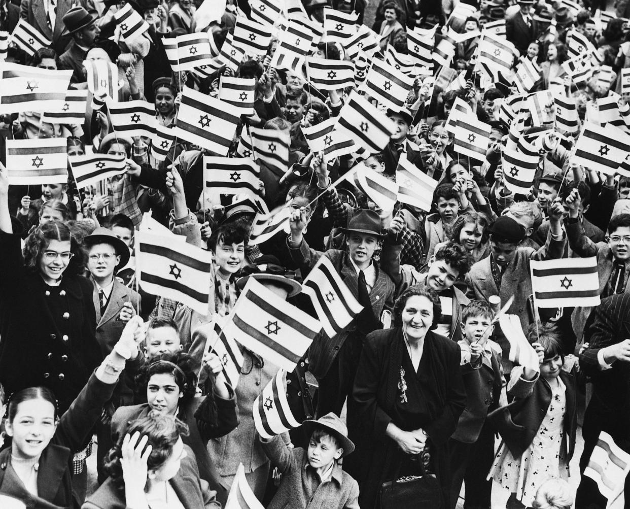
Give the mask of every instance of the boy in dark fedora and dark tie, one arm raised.
<path id="1" fill-rule="evenodd" d="M 381 217 L 374 210 L 359 209 L 348 220 L 347 251 L 328 249 L 325 253 L 309 248 L 304 239 L 307 216 L 304 208 L 290 217 L 287 247 L 294 263 L 306 277 L 320 256 L 327 256 L 359 304 L 364 306 L 345 331 L 334 338 L 322 334 L 309 350 L 309 370 L 319 380 L 318 415 L 329 411 L 340 415 L 346 397 L 352 391 L 358 360 L 365 336 L 381 328 L 382 312 L 392 309 L 395 287 L 391 278 L 372 262 L 380 239 Z M 351 404 L 351 399 L 348 399 Z"/>

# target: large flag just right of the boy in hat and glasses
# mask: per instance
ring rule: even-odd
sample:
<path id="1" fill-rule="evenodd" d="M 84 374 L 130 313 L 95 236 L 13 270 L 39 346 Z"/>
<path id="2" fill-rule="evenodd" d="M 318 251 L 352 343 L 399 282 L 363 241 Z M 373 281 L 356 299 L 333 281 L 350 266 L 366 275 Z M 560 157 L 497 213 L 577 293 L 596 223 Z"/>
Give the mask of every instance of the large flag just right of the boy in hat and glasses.
<path id="1" fill-rule="evenodd" d="M 140 230 L 135 236 L 135 270 L 147 293 L 175 299 L 203 316 L 208 313 L 210 251 Z"/>

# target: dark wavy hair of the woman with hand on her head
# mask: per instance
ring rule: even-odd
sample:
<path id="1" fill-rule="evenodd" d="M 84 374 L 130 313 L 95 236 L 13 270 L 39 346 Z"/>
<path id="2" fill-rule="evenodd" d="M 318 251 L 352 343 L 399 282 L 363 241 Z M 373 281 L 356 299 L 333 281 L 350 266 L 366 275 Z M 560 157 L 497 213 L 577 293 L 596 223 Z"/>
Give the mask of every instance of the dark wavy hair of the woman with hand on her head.
<path id="1" fill-rule="evenodd" d="M 146 417 L 139 418 L 132 421 L 118 439 L 118 443 L 110 449 L 105 456 L 103 469 L 105 473 L 113 479 L 113 482 L 122 488 L 122 464 L 120 459 L 122 458 L 122 442 L 125 435 L 133 436 L 134 433 L 139 433 L 140 437 L 147 437 L 147 443 L 145 447 L 151 445 L 151 454 L 147 458 L 147 469 L 156 470 L 166 463 L 166 460 L 173 454 L 173 447 L 180 439 L 188 435 L 188 426 L 170 415 L 162 415 L 160 413 L 151 411 Z M 144 452 L 144 451 L 143 451 Z"/>

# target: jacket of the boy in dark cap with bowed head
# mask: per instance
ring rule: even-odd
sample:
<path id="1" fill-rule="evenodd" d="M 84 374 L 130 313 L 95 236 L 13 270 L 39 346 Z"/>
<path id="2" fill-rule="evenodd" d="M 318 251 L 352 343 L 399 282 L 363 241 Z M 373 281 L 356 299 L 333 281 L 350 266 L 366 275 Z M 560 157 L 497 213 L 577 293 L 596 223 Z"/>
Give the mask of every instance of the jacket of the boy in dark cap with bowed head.
<path id="1" fill-rule="evenodd" d="M 532 278 L 530 277 L 530 260 L 552 260 L 561 258 L 566 244 L 566 236 L 562 240 L 554 240 L 551 231 L 547 236 L 547 243 L 542 248 L 517 248 L 517 251 L 501 277 L 501 289 L 496 288 L 492 277 L 490 256 L 479 260 L 466 275 L 466 283 L 470 299 L 488 300 L 490 295 L 498 295 L 505 304 L 510 297 L 514 297 L 509 314 L 515 314 L 520 319 L 523 328 L 532 323 L 535 318 L 532 299 Z"/>

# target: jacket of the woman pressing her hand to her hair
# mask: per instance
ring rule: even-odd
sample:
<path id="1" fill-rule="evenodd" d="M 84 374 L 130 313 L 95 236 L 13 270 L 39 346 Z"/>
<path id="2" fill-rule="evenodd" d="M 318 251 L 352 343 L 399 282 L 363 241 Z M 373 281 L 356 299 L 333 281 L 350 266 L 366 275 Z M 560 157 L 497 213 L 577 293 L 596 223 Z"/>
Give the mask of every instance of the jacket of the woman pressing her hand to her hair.
<path id="1" fill-rule="evenodd" d="M 180 470 L 176 476 L 168 481 L 173 491 L 180 499 L 185 509 L 221 509 L 221 504 L 215 500 L 215 492 L 210 491 L 208 483 L 199 478 L 199 471 L 195 463 L 195 455 L 184 446 L 188 455 L 181 460 Z M 123 485 L 124 486 L 124 485 Z M 112 478 L 88 497 L 82 509 L 125 509 L 125 489 L 119 488 Z"/>

